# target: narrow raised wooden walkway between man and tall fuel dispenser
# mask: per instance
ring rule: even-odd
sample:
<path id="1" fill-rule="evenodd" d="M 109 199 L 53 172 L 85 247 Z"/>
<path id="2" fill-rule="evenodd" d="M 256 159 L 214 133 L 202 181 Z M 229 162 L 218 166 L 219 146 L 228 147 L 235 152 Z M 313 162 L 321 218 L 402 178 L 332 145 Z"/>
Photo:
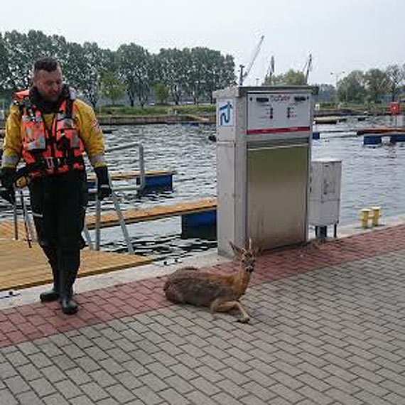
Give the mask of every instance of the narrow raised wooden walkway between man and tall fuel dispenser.
<path id="1" fill-rule="evenodd" d="M 135 222 L 158 220 L 175 215 L 193 214 L 215 210 L 217 201 L 215 198 L 207 198 L 199 201 L 178 202 L 173 205 L 158 205 L 156 207 L 145 208 L 141 210 L 130 209 L 122 212 L 126 224 Z M 95 229 L 95 215 L 86 215 L 87 227 Z M 119 225 L 116 212 L 106 212 L 101 215 L 101 227 L 114 227 Z"/>

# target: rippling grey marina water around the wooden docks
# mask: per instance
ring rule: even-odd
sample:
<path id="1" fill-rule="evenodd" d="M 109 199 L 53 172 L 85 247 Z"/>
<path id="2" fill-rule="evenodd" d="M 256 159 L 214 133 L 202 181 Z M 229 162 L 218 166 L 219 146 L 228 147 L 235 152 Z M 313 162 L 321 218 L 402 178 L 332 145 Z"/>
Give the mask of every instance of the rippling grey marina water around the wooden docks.
<path id="1" fill-rule="evenodd" d="M 389 117 L 366 121 L 349 118 L 336 125 L 318 125 L 320 140 L 313 141 L 312 158 L 342 160 L 342 192 L 340 224 L 360 225 L 360 210 L 378 205 L 382 217 L 405 213 L 405 144 L 363 146 L 363 137 L 355 129 L 364 126 L 390 124 Z M 391 122 L 391 124 L 394 124 Z M 146 125 L 117 126 L 106 134 L 107 148 L 128 142 L 144 146 L 146 171 L 175 170 L 172 190 L 156 190 L 137 195 L 119 193 L 121 209 L 146 208 L 175 202 L 216 197 L 216 144 L 208 138 L 215 134 L 212 125 Z M 107 155 L 110 170 L 138 170 L 136 148 L 115 151 Z M 114 181 L 114 185 L 133 184 L 134 180 Z M 102 202 L 102 210 L 113 209 L 110 200 Z M 89 212 L 94 210 L 90 202 Z M 10 217 L 11 211 L 0 202 L 0 216 Z M 188 237 L 181 235 L 180 217 L 139 222 L 128 225 L 136 254 L 147 254 L 158 263 L 171 264 L 198 252 L 216 248 L 213 235 Z M 94 237 L 94 233 L 91 232 Z M 119 227 L 102 229 L 102 248 L 126 252 Z"/>

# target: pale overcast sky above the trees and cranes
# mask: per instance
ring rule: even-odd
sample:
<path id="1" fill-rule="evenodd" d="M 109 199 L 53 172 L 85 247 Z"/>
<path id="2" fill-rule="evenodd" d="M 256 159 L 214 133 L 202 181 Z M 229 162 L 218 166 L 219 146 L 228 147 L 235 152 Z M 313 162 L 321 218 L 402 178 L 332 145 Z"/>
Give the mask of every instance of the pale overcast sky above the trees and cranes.
<path id="1" fill-rule="evenodd" d="M 263 80 L 271 55 L 279 74 L 302 70 L 311 53 L 313 84 L 402 65 L 404 21 L 404 0 L 19 0 L 0 10 L 2 33 L 36 29 L 112 50 L 134 42 L 151 53 L 202 46 L 233 55 L 237 67 L 249 64 L 264 35 L 245 85 Z"/>

